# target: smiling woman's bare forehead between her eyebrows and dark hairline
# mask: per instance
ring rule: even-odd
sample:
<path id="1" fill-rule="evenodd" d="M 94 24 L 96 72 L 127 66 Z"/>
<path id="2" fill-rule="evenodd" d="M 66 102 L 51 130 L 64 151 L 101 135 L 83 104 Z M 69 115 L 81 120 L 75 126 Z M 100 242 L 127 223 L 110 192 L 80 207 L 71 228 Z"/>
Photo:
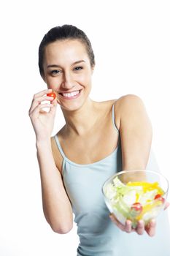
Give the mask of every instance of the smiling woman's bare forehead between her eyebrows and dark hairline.
<path id="1" fill-rule="evenodd" d="M 88 60 L 85 45 L 77 39 L 64 39 L 52 42 L 45 47 L 46 64 L 55 64 L 56 61 L 74 62 L 79 59 Z"/>

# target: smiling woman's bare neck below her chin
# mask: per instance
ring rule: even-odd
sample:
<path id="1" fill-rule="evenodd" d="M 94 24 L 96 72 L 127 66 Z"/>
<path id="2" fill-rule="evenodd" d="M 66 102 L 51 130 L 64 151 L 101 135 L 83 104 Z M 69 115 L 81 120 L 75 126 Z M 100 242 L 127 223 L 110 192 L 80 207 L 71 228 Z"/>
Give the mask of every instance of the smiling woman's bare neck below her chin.
<path id="1" fill-rule="evenodd" d="M 78 110 L 65 110 L 63 116 L 66 121 L 65 132 L 67 135 L 86 135 L 94 127 L 98 120 L 98 102 L 88 98 Z"/>

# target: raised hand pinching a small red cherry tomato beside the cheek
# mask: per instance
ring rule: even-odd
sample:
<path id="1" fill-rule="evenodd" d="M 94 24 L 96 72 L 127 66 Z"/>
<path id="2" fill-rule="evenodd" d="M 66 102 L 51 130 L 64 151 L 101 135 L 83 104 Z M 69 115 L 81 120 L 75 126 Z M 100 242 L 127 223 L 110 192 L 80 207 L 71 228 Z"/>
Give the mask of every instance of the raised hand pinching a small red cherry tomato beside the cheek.
<path id="1" fill-rule="evenodd" d="M 53 132 L 57 99 L 53 99 L 53 97 L 47 97 L 47 95 L 45 95 L 50 92 L 52 92 L 52 89 L 39 91 L 37 94 L 34 94 L 31 102 L 31 108 L 28 112 L 36 134 L 36 142 L 50 139 L 51 133 Z M 50 104 L 41 104 L 41 102 L 45 100 L 49 100 Z M 42 108 L 50 108 L 50 111 L 46 112 L 45 110 L 42 110 Z"/>

